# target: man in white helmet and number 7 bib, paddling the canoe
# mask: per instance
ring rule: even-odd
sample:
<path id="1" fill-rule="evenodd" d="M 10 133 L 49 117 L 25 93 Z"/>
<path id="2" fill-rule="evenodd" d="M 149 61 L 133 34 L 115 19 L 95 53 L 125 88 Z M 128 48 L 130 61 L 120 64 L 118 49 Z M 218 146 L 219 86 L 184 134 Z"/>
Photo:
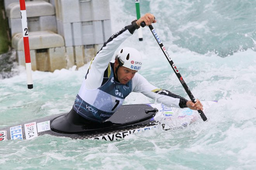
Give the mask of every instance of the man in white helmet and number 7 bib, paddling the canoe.
<path id="1" fill-rule="evenodd" d="M 152 14 L 145 14 L 139 20 L 134 20 L 131 25 L 110 37 L 92 59 L 73 109 L 69 112 L 69 117 L 70 114 L 76 117 L 73 119 L 75 124 L 102 124 L 114 114 L 131 92 L 141 92 L 170 107 L 203 110 L 199 100 L 194 104 L 168 90 L 161 90 L 138 74 L 143 61 L 136 49 L 120 49 L 115 62 L 110 63 L 116 49 L 143 21 L 147 26 L 156 22 Z"/>

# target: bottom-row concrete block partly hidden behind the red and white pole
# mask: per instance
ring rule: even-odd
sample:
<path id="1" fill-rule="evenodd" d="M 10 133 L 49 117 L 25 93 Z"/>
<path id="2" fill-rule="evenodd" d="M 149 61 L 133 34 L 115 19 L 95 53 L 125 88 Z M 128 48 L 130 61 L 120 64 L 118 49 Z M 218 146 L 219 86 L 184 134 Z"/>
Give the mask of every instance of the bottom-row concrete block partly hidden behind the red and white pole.
<path id="1" fill-rule="evenodd" d="M 19 65 L 26 67 L 24 51 L 16 51 L 16 57 Z M 35 50 L 30 50 L 30 60 L 31 60 L 31 69 L 35 71 L 36 70 L 36 51 Z"/>

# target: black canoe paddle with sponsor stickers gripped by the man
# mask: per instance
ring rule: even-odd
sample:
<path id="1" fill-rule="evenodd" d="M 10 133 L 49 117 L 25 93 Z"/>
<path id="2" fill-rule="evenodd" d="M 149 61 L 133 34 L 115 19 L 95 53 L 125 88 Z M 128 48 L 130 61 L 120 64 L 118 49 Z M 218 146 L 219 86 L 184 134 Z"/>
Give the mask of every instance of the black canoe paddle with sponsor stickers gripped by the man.
<path id="1" fill-rule="evenodd" d="M 146 24 L 145 22 L 140 23 L 140 26 L 145 27 Z M 187 86 L 187 84 L 185 83 L 185 81 L 183 80 L 182 76 L 180 75 L 180 72 L 178 71 L 178 68 L 175 66 L 175 64 L 173 63 L 173 60 L 171 59 L 170 55 L 168 54 L 166 48 L 164 47 L 163 43 L 161 42 L 159 36 L 156 33 L 156 30 L 153 28 L 152 25 L 149 25 L 149 29 L 152 32 L 152 34 L 154 35 L 156 41 L 158 42 L 160 48 L 162 49 L 166 59 L 168 60 L 168 62 L 170 63 L 171 67 L 173 68 L 173 71 L 175 72 L 176 76 L 178 77 L 178 79 L 180 80 L 180 83 L 182 83 L 182 86 L 184 87 L 185 91 L 187 92 L 187 94 L 189 95 L 190 100 L 192 100 L 193 103 L 196 102 L 195 97 L 192 95 L 191 91 L 189 90 L 189 87 Z M 207 117 L 205 116 L 204 112 L 202 110 L 197 110 L 202 118 L 203 121 L 207 120 Z"/>

